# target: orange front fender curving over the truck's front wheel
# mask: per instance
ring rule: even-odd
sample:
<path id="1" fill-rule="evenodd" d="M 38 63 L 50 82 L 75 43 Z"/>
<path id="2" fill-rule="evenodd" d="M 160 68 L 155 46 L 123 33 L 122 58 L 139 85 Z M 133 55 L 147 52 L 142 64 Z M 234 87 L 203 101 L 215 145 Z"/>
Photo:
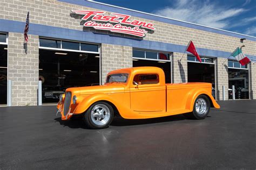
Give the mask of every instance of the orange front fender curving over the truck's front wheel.
<path id="1" fill-rule="evenodd" d="M 113 103 L 114 105 L 118 105 L 117 101 L 114 101 L 112 97 L 108 94 L 104 93 L 97 93 L 92 94 L 87 97 L 85 97 L 81 102 L 77 103 L 76 109 L 73 112 L 73 114 L 82 114 L 85 112 L 93 103 L 98 101 L 108 101 Z"/>

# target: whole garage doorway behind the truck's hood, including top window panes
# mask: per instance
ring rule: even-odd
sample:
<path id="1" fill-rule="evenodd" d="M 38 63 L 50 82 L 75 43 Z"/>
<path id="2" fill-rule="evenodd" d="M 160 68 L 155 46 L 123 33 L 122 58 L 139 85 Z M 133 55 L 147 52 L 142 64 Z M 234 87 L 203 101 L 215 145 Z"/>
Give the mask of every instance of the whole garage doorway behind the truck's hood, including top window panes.
<path id="1" fill-rule="evenodd" d="M 98 44 L 39 39 L 43 103 L 58 102 L 66 88 L 99 85 L 99 69 Z"/>

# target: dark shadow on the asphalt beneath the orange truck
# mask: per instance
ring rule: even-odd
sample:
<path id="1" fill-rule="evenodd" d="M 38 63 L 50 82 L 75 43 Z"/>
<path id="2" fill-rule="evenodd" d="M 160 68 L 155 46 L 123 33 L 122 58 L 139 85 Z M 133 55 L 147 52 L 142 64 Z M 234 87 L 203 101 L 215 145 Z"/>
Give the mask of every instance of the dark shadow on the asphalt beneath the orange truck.
<path id="1" fill-rule="evenodd" d="M 164 123 L 164 122 L 174 122 L 174 121 L 183 121 L 186 118 L 183 115 L 174 115 L 166 116 L 159 118 L 149 118 L 149 119 L 124 119 L 122 117 L 114 117 L 110 126 L 132 126 L 132 125 L 144 125 L 144 124 L 155 124 L 155 123 Z M 82 118 L 75 118 L 71 121 L 62 121 L 60 117 L 54 119 L 55 122 L 58 122 L 60 125 L 68 126 L 72 129 L 88 129 L 82 120 Z"/>

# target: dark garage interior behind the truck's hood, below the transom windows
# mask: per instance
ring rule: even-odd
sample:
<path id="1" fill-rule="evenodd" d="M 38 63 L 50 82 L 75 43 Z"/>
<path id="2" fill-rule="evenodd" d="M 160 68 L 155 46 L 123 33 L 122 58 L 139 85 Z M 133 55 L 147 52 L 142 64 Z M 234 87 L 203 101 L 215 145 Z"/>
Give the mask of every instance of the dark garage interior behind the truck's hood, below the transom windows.
<path id="1" fill-rule="evenodd" d="M 39 49 L 43 103 L 58 102 L 66 88 L 99 85 L 98 54 Z"/>

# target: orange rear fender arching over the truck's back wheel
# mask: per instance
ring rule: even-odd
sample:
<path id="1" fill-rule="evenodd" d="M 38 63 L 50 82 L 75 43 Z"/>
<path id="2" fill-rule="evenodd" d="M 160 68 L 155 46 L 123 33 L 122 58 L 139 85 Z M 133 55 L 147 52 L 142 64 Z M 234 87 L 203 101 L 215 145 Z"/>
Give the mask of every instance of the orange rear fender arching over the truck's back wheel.
<path id="1" fill-rule="evenodd" d="M 186 102 L 186 109 L 193 111 L 193 107 L 194 107 L 194 102 L 196 101 L 196 98 L 199 95 L 207 95 L 209 97 L 209 99 L 211 100 L 213 107 L 219 109 L 220 105 L 215 101 L 215 99 L 213 98 L 211 93 L 208 93 L 207 90 L 205 89 L 194 89 L 192 91 L 190 91 L 190 94 L 187 97 L 187 102 Z"/>

